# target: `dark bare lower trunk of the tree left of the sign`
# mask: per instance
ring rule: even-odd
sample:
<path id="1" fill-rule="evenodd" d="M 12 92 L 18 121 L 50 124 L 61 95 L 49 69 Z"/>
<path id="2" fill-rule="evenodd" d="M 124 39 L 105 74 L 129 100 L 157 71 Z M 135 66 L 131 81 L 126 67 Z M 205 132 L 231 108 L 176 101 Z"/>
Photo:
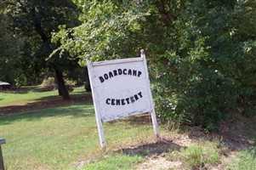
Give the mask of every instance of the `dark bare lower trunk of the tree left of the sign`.
<path id="1" fill-rule="evenodd" d="M 57 77 L 59 95 L 62 96 L 62 99 L 70 99 L 70 95 L 67 89 L 65 88 L 65 82 L 63 79 L 62 72 L 59 71 L 58 69 L 55 69 L 55 74 Z"/>

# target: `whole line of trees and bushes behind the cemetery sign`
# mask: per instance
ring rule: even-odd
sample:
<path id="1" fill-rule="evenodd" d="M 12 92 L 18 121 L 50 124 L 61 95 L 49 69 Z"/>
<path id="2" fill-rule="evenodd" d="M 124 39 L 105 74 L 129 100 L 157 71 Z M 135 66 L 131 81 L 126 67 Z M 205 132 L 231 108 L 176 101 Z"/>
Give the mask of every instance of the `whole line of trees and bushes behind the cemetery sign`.
<path id="1" fill-rule="evenodd" d="M 9 65 L 20 65 L 23 74 L 51 70 L 61 80 L 58 71 L 65 77 L 74 68 L 84 71 L 77 64 L 86 66 L 86 54 L 95 60 L 128 58 L 144 48 L 163 122 L 214 130 L 234 113 L 255 115 L 253 0 L 4 2 L 1 16 L 10 24 L 1 24 L 1 41 L 19 41 L 17 52 L 9 46 L 1 58 L 13 59 Z"/>

